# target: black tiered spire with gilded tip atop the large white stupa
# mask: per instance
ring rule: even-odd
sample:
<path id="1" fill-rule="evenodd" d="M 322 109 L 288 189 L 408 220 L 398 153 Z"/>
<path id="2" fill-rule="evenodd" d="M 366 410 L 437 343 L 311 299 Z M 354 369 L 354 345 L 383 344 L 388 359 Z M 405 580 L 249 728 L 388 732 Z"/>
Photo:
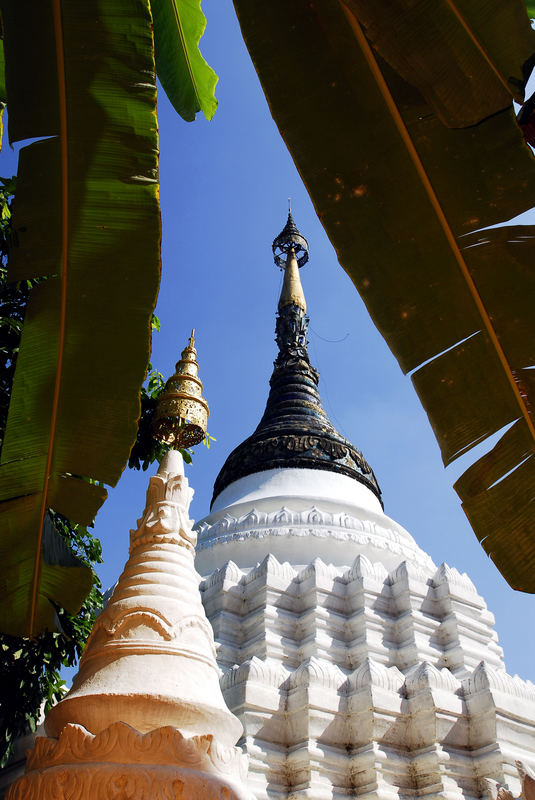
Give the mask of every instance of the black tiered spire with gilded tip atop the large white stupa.
<path id="1" fill-rule="evenodd" d="M 327 417 L 318 392 L 319 373 L 307 350 L 309 319 L 299 277 L 308 243 L 291 213 L 273 242 L 275 263 L 284 269 L 276 321 L 279 354 L 274 362 L 266 410 L 260 423 L 227 458 L 214 486 L 215 498 L 229 484 L 267 469 L 307 468 L 338 472 L 363 483 L 381 500 L 371 467 Z"/>

